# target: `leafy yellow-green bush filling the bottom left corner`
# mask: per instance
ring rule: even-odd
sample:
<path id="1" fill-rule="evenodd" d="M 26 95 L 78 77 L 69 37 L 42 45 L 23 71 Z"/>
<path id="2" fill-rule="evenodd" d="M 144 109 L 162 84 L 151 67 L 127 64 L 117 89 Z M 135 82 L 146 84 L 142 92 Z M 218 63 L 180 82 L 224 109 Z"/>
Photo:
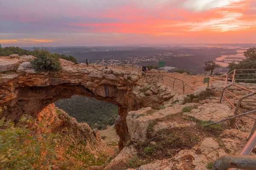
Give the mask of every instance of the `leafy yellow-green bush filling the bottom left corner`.
<path id="1" fill-rule="evenodd" d="M 21 117 L 16 125 L 0 119 L 0 169 L 52 169 L 59 134 L 45 130 L 45 121 L 36 123 L 31 116 Z"/>

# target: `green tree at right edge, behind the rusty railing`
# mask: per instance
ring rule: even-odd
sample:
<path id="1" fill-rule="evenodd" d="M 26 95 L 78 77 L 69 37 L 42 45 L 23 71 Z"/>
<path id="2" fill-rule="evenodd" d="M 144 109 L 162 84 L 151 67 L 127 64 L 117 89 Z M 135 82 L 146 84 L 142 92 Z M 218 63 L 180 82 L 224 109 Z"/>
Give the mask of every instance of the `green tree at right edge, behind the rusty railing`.
<path id="1" fill-rule="evenodd" d="M 230 71 L 233 71 L 234 69 L 252 69 L 256 68 L 256 48 L 249 48 L 247 51 L 244 52 L 244 57 L 242 61 L 240 61 L 238 64 L 235 62 L 229 63 L 227 68 Z M 256 79 L 256 75 L 253 74 L 256 73 L 256 71 L 239 71 L 237 74 L 250 74 L 250 75 L 236 75 L 235 79 Z M 256 83 L 256 81 L 252 80 L 236 80 L 236 82 L 250 82 L 250 83 Z"/>

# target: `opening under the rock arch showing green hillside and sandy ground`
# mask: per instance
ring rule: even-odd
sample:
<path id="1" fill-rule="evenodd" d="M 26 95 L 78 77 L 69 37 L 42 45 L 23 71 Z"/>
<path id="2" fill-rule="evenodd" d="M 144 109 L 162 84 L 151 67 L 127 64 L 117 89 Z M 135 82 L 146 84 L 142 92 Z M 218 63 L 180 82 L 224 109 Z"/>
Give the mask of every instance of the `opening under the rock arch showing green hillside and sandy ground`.
<path id="1" fill-rule="evenodd" d="M 115 122 L 120 117 L 117 105 L 79 95 L 73 95 L 69 99 L 60 99 L 54 104 L 75 118 L 77 122 L 85 122 L 92 129 L 97 128 L 100 136 L 108 145 L 117 145 L 119 136 L 116 134 Z"/>

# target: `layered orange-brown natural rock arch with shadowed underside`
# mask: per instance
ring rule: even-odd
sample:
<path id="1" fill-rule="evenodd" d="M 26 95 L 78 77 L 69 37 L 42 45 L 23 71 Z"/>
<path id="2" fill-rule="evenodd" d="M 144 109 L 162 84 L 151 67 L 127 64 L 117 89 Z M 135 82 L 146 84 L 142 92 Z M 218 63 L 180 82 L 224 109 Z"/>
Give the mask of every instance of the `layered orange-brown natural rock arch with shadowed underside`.
<path id="1" fill-rule="evenodd" d="M 12 60 L 12 59 L 10 59 Z M 17 70 L 0 77 L 0 106 L 7 106 L 1 117 L 17 122 L 23 114 L 37 117 L 45 107 L 73 95 L 89 96 L 110 102 L 119 107 L 120 119 L 116 121 L 116 133 L 120 137 L 119 148 L 128 140 L 126 116 L 129 111 L 163 103 L 159 97 L 175 93 L 162 90 L 162 95 L 146 97 L 137 85 L 141 75 L 131 71 L 108 68 L 87 68 L 61 59 L 62 71 L 57 74 L 36 73 L 29 62 L 21 61 Z M 159 91 L 160 85 L 154 91 Z M 166 100 L 166 99 L 165 99 Z"/>

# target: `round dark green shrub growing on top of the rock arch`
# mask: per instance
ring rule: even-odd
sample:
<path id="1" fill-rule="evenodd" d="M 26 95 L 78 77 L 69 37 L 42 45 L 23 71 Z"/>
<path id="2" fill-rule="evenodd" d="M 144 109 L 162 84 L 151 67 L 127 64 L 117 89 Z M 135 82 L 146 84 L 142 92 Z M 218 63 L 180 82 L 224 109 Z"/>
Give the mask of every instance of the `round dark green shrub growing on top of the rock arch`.
<path id="1" fill-rule="evenodd" d="M 53 71 L 58 72 L 61 70 L 61 62 L 56 54 L 50 54 L 46 49 L 35 49 L 35 58 L 30 63 L 36 72 Z"/>

